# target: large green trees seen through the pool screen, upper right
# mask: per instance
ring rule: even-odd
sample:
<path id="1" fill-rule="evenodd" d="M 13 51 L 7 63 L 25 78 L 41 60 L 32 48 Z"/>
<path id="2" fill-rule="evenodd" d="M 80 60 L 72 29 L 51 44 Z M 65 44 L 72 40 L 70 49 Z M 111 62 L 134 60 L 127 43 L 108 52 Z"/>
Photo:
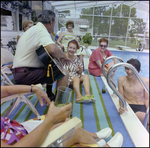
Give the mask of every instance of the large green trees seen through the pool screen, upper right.
<path id="1" fill-rule="evenodd" d="M 109 6 L 99 6 L 95 7 L 94 14 L 95 15 L 101 15 L 101 16 L 94 16 L 94 22 L 93 22 L 93 34 L 96 35 L 103 35 L 103 34 L 109 34 L 109 27 L 111 23 L 111 36 L 126 36 L 127 27 L 128 27 L 128 21 L 129 18 L 123 18 L 123 17 L 129 17 L 130 7 L 127 5 L 122 5 L 122 12 L 121 5 L 118 5 L 117 7 L 113 7 L 113 16 L 120 16 L 120 18 L 112 17 L 112 20 L 110 17 L 103 17 L 103 15 L 110 16 L 111 15 L 111 7 Z M 80 18 L 85 19 L 89 21 L 90 28 L 92 27 L 92 16 L 85 16 L 84 14 L 93 14 L 93 7 L 91 8 L 84 8 L 81 11 Z M 132 24 L 129 25 L 129 36 L 134 37 L 135 33 L 143 33 L 145 30 L 145 23 L 143 22 L 143 19 L 135 19 L 136 18 L 136 9 L 132 8 L 130 17 L 132 20 Z M 132 18 L 134 17 L 134 18 Z M 111 21 L 111 22 L 110 22 Z M 130 23 L 129 23 L 130 24 Z"/>

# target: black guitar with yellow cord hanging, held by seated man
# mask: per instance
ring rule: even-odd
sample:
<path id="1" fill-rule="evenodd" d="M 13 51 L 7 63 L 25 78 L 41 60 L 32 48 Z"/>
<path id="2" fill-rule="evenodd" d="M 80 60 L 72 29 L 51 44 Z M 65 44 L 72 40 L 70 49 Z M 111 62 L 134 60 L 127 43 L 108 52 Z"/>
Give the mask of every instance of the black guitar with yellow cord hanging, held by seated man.
<path id="1" fill-rule="evenodd" d="M 42 45 L 36 49 L 36 53 L 47 68 L 47 77 L 50 76 L 53 81 L 56 81 L 66 75 L 60 60 L 52 57 Z"/>

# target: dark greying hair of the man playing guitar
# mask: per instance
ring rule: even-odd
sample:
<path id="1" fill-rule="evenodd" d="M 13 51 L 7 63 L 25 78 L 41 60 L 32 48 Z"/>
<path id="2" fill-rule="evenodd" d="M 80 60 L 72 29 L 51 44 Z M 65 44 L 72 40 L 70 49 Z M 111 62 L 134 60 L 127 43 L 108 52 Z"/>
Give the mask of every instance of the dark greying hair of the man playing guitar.
<path id="1" fill-rule="evenodd" d="M 55 13 L 51 10 L 43 10 L 38 16 L 38 22 L 41 22 L 43 24 L 49 24 L 51 20 L 53 22 L 55 20 Z"/>

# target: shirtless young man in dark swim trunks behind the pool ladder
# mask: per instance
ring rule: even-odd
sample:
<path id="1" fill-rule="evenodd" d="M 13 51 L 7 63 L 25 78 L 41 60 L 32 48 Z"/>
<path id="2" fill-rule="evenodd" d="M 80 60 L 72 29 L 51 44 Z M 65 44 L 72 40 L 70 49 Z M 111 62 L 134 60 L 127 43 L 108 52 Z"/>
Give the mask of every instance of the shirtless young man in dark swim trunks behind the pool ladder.
<path id="1" fill-rule="evenodd" d="M 141 63 L 137 59 L 130 59 L 127 63 L 135 67 L 139 72 Z M 127 76 L 118 78 L 118 91 L 125 98 L 139 120 L 143 123 L 146 109 L 149 106 L 149 95 L 136 78 L 131 69 L 125 68 Z M 149 88 L 149 79 L 141 77 Z M 119 114 L 122 114 L 125 109 L 122 107 L 122 102 L 119 100 Z M 149 121 L 148 121 L 149 122 Z"/>

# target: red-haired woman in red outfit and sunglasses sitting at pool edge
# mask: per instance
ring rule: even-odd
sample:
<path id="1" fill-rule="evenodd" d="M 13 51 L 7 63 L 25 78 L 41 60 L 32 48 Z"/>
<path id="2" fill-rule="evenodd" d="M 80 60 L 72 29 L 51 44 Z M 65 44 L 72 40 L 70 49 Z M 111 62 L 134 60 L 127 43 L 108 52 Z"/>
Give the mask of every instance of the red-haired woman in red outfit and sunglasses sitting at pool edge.
<path id="1" fill-rule="evenodd" d="M 112 56 L 113 54 L 107 49 L 108 46 L 108 40 L 105 38 L 101 38 L 99 41 L 99 47 L 95 49 L 90 58 L 89 58 L 89 65 L 88 70 L 91 75 L 94 76 L 102 76 L 102 63 L 104 59 Z M 105 65 L 105 72 L 108 72 L 108 69 L 113 65 L 116 64 L 117 60 L 113 59 L 113 62 L 108 63 Z M 115 74 L 115 71 L 111 75 L 111 79 L 113 80 L 113 76 Z"/>

